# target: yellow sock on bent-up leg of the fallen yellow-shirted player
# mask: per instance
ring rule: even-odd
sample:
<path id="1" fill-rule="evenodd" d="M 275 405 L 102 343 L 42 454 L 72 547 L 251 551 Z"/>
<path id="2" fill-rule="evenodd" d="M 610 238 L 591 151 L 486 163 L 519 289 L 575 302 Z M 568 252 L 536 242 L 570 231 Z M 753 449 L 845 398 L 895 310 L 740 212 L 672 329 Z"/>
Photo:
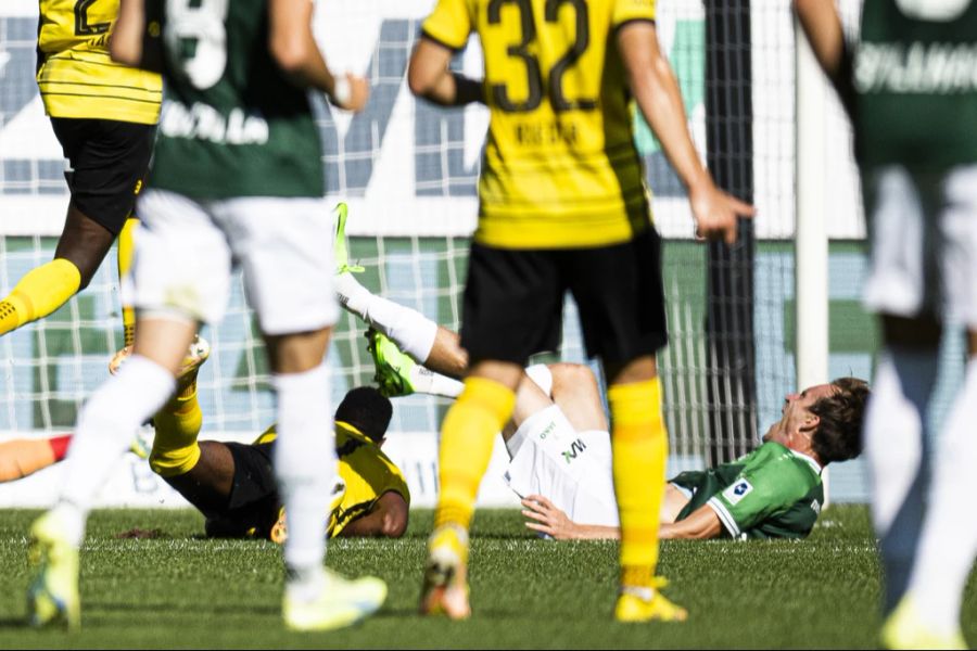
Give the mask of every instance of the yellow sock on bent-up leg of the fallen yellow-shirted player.
<path id="1" fill-rule="evenodd" d="M 191 382 L 153 417 L 156 436 L 150 452 L 150 468 L 162 477 L 185 474 L 200 460 L 196 436 L 203 413 L 196 400 L 196 382 Z"/>

